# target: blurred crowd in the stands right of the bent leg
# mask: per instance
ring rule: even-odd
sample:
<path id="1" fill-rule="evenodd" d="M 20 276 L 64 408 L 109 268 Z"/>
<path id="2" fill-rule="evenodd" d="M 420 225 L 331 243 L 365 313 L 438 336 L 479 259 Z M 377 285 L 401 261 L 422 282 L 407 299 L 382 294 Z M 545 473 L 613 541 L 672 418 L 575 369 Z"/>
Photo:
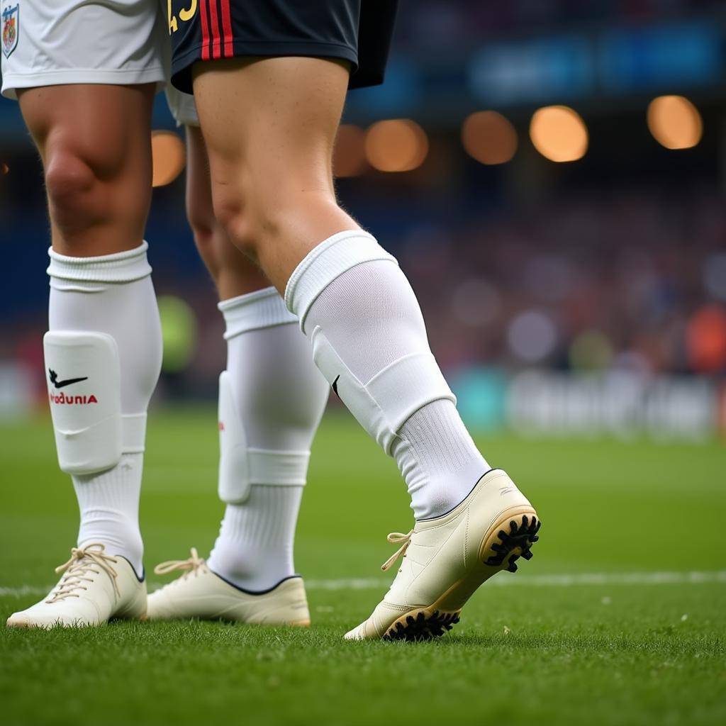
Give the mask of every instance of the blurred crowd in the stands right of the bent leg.
<path id="1" fill-rule="evenodd" d="M 726 373 L 726 210 L 713 192 L 583 195 L 409 233 L 444 367 Z"/>

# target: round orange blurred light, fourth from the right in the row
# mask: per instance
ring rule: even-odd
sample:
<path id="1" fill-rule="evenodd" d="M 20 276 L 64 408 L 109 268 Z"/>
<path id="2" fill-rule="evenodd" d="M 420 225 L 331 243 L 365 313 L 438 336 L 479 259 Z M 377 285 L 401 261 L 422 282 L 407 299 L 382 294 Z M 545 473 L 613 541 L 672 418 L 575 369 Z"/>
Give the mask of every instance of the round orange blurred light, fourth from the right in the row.
<path id="1" fill-rule="evenodd" d="M 374 123 L 366 134 L 368 163 L 379 171 L 411 171 L 428 155 L 425 131 L 408 118 Z"/>

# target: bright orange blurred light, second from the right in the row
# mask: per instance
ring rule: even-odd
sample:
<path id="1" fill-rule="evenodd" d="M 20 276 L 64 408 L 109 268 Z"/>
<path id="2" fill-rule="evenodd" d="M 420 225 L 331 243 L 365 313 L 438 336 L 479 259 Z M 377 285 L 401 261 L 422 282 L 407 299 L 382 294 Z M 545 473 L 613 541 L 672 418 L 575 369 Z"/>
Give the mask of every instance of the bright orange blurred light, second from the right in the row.
<path id="1" fill-rule="evenodd" d="M 529 124 L 534 148 L 550 161 L 576 161 L 587 152 L 587 126 L 568 106 L 546 106 Z"/>

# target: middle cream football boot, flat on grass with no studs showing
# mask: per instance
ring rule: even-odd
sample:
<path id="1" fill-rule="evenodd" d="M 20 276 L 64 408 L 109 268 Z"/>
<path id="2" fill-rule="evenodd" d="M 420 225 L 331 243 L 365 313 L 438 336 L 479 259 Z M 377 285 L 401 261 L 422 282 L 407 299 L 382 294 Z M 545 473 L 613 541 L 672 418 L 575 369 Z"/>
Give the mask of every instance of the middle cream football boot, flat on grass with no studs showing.
<path id="1" fill-rule="evenodd" d="M 308 600 L 301 577 L 288 577 L 266 592 L 245 592 L 214 574 L 192 547 L 188 560 L 171 560 L 154 568 L 181 577 L 149 595 L 150 620 L 229 620 L 265 625 L 310 624 Z"/>

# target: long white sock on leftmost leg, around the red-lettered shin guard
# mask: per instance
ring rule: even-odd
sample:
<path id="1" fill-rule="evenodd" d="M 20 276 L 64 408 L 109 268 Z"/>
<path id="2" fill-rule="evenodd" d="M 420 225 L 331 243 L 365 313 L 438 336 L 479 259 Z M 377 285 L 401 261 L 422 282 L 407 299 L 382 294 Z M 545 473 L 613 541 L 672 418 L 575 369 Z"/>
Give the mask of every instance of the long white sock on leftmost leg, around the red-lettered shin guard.
<path id="1" fill-rule="evenodd" d="M 161 367 L 161 327 L 147 243 L 115 255 L 74 258 L 50 250 L 49 329 L 111 335 L 121 368 L 121 412 L 145 417 Z M 105 544 L 142 574 L 139 492 L 144 454 L 124 453 L 114 468 L 73 475 L 81 525 L 78 546 Z"/>

